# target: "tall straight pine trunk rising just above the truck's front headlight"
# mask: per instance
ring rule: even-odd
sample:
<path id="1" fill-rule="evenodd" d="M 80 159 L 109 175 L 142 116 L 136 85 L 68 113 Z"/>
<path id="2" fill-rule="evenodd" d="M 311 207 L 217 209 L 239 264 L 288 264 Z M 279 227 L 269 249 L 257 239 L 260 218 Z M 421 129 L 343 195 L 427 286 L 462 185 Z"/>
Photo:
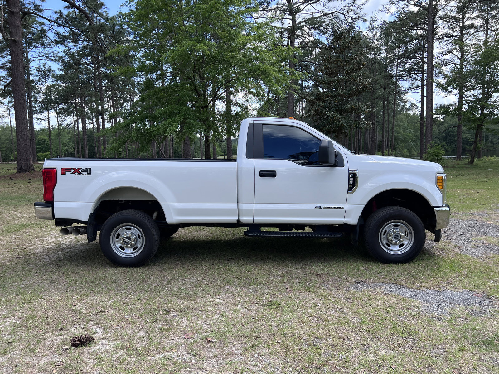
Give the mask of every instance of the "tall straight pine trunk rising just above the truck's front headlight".
<path id="1" fill-rule="evenodd" d="M 428 0 L 428 24 L 427 24 L 427 63 L 426 63 L 426 137 L 425 151 L 430 147 L 433 138 L 433 42 L 435 9 L 433 0 Z"/>

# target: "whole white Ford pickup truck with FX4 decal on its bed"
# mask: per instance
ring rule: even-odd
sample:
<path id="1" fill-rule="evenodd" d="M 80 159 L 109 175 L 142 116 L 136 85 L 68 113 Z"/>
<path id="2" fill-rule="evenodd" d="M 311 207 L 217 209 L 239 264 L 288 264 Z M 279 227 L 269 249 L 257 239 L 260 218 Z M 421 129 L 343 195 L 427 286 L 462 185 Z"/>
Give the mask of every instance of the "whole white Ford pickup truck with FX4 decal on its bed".
<path id="1" fill-rule="evenodd" d="M 36 216 L 88 242 L 100 231 L 103 254 L 119 266 L 143 265 L 162 237 L 188 226 L 248 227 L 245 235 L 265 237 L 351 234 L 377 260 L 401 263 L 420 253 L 425 229 L 439 241 L 449 224 L 439 164 L 354 154 L 293 119 L 244 120 L 237 161 L 58 158 L 43 168 Z"/>

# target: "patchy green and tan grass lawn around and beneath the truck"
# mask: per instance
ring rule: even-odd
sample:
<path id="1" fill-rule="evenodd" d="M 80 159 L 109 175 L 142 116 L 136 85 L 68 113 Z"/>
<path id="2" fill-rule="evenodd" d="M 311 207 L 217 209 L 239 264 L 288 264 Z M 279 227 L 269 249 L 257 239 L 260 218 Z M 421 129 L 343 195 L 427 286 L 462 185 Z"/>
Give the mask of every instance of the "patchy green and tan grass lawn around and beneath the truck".
<path id="1" fill-rule="evenodd" d="M 410 264 L 382 265 L 348 240 L 189 228 L 149 265 L 122 269 L 98 243 L 34 217 L 39 173 L 11 179 L 14 166 L 2 167 L 2 373 L 499 373 L 497 310 L 431 316 L 418 301 L 352 289 L 499 296 L 498 256 L 429 242 Z M 498 170 L 496 160 L 448 167 L 451 206 L 494 214 Z M 85 333 L 94 344 L 63 351 Z"/>

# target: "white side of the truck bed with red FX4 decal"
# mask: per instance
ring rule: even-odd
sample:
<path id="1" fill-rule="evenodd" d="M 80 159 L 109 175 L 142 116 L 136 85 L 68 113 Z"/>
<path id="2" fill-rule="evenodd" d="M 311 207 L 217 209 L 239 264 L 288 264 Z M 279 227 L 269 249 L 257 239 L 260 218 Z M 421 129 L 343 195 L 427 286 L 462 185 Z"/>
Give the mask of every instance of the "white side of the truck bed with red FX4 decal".
<path id="1" fill-rule="evenodd" d="M 236 222 L 236 160 L 48 159 L 57 168 L 54 216 L 86 221 L 102 200 L 157 200 L 170 224 Z M 126 186 L 126 187 L 124 187 Z"/>

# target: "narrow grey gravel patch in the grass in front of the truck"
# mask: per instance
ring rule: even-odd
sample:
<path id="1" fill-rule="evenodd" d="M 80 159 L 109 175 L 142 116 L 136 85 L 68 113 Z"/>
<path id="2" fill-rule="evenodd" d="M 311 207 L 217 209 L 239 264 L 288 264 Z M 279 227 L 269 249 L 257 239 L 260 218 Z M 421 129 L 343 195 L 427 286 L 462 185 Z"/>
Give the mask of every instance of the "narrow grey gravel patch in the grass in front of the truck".
<path id="1" fill-rule="evenodd" d="M 425 314 L 443 316 L 452 309 L 464 307 L 472 315 L 486 314 L 490 309 L 497 308 L 498 303 L 482 294 L 462 291 L 435 291 L 413 290 L 404 286 L 391 283 L 355 283 L 351 285 L 354 290 L 381 289 L 383 293 L 391 293 L 412 300 L 421 301 L 421 311 Z"/>

